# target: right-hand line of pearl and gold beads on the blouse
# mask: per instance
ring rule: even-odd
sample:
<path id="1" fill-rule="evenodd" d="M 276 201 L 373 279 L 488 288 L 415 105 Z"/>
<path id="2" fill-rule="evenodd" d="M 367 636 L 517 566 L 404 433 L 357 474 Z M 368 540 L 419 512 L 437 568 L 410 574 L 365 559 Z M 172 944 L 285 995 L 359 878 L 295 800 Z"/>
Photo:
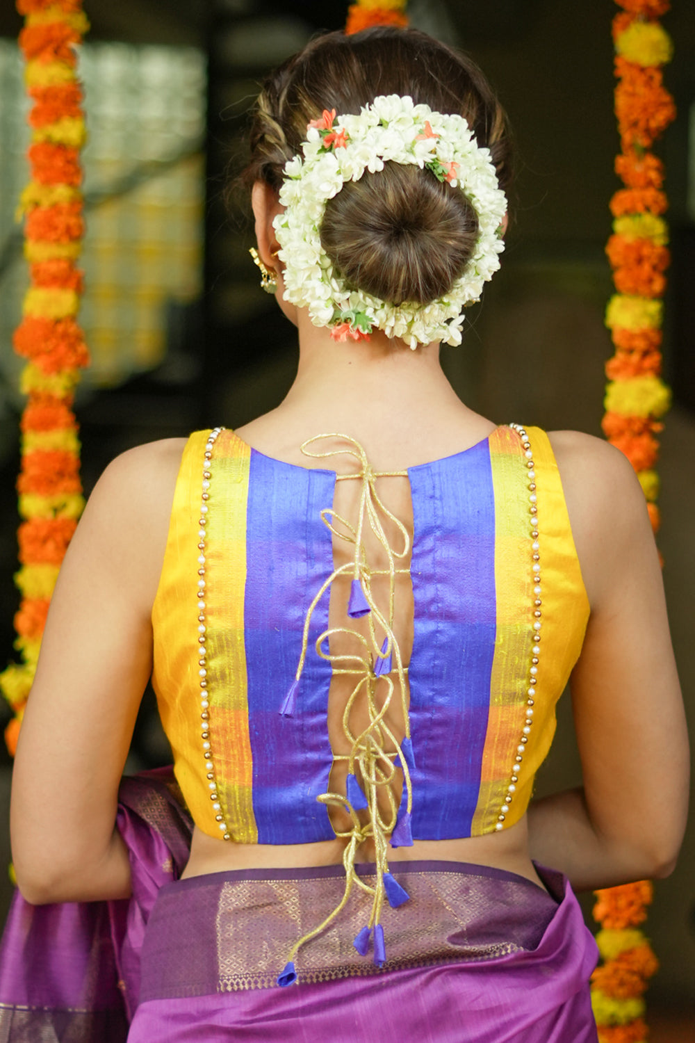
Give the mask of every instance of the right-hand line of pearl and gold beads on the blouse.
<path id="1" fill-rule="evenodd" d="M 533 704 L 536 702 L 536 694 L 539 684 L 539 658 L 541 654 L 540 640 L 541 640 L 541 555 L 540 555 L 540 544 L 539 544 L 539 520 L 538 520 L 538 503 L 536 494 L 536 465 L 533 463 L 533 452 L 528 441 L 528 436 L 524 428 L 518 423 L 511 423 L 510 428 L 516 431 L 521 439 L 521 446 L 524 451 L 524 457 L 526 460 L 526 480 L 528 482 L 528 504 L 529 504 L 529 516 L 530 516 L 530 535 L 531 535 L 531 573 L 530 578 L 532 582 L 533 600 L 532 600 L 532 624 L 530 630 L 531 637 L 531 660 L 528 668 L 528 679 L 525 681 L 526 685 L 526 715 L 524 720 L 523 728 L 521 729 L 521 735 L 519 737 L 519 744 L 517 746 L 516 754 L 514 757 L 514 765 L 512 767 L 512 773 L 510 778 L 510 784 L 506 787 L 506 795 L 504 797 L 504 802 L 502 803 L 499 815 L 497 816 L 497 822 L 495 823 L 495 829 L 500 830 L 504 828 L 504 821 L 510 812 L 510 804 L 514 800 L 514 795 L 517 792 L 517 783 L 519 782 L 519 775 L 521 772 L 521 766 L 524 759 L 524 753 L 526 752 L 526 746 L 530 736 L 531 728 L 533 726 Z"/>

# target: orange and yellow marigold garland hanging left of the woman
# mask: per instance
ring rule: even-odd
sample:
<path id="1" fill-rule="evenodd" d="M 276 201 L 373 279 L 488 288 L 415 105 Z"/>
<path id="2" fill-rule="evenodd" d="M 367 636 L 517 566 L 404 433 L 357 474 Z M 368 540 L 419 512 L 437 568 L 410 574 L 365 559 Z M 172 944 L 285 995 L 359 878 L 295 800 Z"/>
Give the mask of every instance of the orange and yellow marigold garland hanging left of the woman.
<path id="1" fill-rule="evenodd" d="M 58 568 L 82 507 L 77 422 L 72 412 L 79 369 L 89 363 L 76 322 L 84 232 L 79 152 L 85 141 L 76 47 L 89 28 L 82 0 L 17 0 L 25 18 L 19 38 L 30 99 L 31 180 L 22 193 L 30 286 L 14 345 L 28 359 L 21 377 L 27 404 L 21 420 L 17 483 L 21 591 L 15 616 L 22 662 L 0 674 L 15 717 L 5 730 L 10 754 L 33 681 Z"/>

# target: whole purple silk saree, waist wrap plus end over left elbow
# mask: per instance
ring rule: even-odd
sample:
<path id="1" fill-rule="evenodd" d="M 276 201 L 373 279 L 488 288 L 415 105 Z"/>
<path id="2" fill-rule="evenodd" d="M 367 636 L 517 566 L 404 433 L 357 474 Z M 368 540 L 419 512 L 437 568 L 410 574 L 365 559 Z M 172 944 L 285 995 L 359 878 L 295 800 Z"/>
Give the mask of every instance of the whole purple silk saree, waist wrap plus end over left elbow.
<path id="1" fill-rule="evenodd" d="M 124 780 L 119 828 L 131 899 L 16 896 L 1 1043 L 596 1043 L 596 946 L 557 873 L 542 871 L 546 892 L 480 866 L 392 867 L 409 901 L 384 913 L 386 965 L 352 946 L 370 904 L 355 894 L 282 989 L 288 949 L 334 906 L 342 867 L 178 880 L 191 823 L 165 772 Z"/>

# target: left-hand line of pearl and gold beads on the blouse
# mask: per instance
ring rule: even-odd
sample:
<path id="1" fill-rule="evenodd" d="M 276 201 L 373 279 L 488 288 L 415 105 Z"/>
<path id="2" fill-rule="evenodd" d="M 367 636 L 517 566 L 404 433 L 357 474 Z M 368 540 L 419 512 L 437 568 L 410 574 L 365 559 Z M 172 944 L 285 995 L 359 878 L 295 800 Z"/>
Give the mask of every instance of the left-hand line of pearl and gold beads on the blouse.
<path id="1" fill-rule="evenodd" d="M 210 431 L 205 442 L 205 453 L 203 455 L 202 485 L 200 492 L 200 516 L 198 518 L 198 581 L 196 589 L 196 600 L 198 603 L 198 677 L 200 687 L 200 738 L 202 742 L 202 755 L 205 761 L 205 778 L 209 790 L 209 799 L 213 803 L 212 810 L 215 812 L 215 821 L 222 833 L 222 840 L 230 841 L 231 833 L 222 810 L 222 801 L 218 792 L 217 779 L 215 777 L 215 766 L 213 762 L 213 749 L 209 739 L 209 695 L 207 692 L 207 627 L 205 609 L 205 538 L 207 525 L 207 501 L 210 498 L 209 489 L 213 479 L 210 461 L 213 459 L 213 446 L 217 441 L 220 432 L 224 428 L 215 428 Z"/>

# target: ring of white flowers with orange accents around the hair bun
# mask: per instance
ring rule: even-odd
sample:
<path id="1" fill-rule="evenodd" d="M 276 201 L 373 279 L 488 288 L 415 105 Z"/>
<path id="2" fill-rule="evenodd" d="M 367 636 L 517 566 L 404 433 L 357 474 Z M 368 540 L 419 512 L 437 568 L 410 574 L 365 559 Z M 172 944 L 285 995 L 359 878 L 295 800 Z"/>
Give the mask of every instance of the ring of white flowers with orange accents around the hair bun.
<path id="1" fill-rule="evenodd" d="M 284 298 L 307 308 L 312 322 L 329 326 L 334 340 L 361 340 L 372 329 L 400 337 L 412 348 L 443 341 L 460 344 L 466 305 L 477 300 L 499 268 L 506 198 L 497 183 L 490 150 L 480 148 L 463 116 L 443 115 L 409 97 L 389 95 L 358 116 L 325 111 L 307 127 L 302 155 L 284 167 L 279 199 L 284 212 L 273 221 L 284 263 Z M 366 170 L 386 163 L 426 167 L 440 181 L 460 189 L 478 218 L 471 260 L 450 290 L 428 305 L 391 304 L 349 287 L 321 245 L 328 199 Z"/>

